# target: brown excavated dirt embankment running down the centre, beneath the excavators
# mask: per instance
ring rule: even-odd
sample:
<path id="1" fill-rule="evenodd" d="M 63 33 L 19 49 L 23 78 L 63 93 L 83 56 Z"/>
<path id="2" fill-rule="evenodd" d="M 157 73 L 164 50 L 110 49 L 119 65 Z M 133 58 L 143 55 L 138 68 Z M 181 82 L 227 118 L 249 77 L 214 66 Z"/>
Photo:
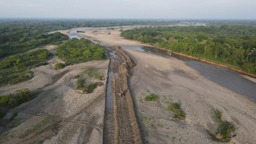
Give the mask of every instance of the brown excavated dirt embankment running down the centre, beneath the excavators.
<path id="1" fill-rule="evenodd" d="M 113 49 L 123 61 L 127 61 L 128 68 L 133 68 L 135 66 L 129 56 L 117 46 L 113 46 Z M 115 120 L 114 143 L 140 144 L 142 143 L 141 134 L 134 112 L 132 96 L 128 87 L 128 78 L 130 77 L 130 74 L 128 73 L 127 67 L 119 65 L 119 75 L 113 77 L 113 112 Z M 120 88 L 124 92 L 124 97 L 118 96 Z"/>

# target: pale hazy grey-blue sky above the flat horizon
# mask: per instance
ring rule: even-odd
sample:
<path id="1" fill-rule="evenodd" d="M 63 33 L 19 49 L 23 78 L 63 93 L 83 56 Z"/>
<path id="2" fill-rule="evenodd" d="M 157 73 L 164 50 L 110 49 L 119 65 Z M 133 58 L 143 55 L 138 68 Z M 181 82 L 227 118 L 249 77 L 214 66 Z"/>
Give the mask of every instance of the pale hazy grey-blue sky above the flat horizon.
<path id="1" fill-rule="evenodd" d="M 0 17 L 256 19 L 256 0 L 0 0 Z"/>

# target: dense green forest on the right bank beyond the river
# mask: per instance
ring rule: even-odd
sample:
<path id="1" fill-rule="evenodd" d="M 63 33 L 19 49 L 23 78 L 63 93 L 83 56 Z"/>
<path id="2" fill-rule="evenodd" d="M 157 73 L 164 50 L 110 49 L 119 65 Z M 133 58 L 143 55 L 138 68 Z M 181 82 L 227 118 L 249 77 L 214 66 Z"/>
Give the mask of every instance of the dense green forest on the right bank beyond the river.
<path id="1" fill-rule="evenodd" d="M 126 30 L 121 36 L 256 73 L 256 26 L 173 26 Z"/>

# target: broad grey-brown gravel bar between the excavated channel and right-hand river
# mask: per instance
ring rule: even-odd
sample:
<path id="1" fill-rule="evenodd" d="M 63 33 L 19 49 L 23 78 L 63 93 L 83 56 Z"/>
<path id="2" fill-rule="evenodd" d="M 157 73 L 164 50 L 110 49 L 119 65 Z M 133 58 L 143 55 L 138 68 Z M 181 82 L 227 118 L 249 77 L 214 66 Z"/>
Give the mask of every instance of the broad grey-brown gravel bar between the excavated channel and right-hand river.
<path id="1" fill-rule="evenodd" d="M 222 111 L 222 120 L 236 126 L 230 144 L 253 144 L 256 141 L 256 103 L 216 84 L 175 58 L 125 49 L 137 63 L 131 77 L 131 92 L 136 99 L 148 143 L 219 144 L 207 131 L 214 132 L 218 122 L 212 107 Z M 150 93 L 159 101 L 145 101 Z M 185 121 L 172 120 L 166 102 L 181 102 Z M 245 105 L 246 104 L 246 105 Z"/>

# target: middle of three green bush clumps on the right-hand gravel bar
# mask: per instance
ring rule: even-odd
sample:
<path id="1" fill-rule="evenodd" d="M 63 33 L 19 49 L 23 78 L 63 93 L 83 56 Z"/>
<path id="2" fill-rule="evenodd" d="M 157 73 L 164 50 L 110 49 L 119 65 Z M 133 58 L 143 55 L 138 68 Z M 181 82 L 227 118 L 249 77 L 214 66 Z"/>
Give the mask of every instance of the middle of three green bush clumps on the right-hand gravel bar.
<path id="1" fill-rule="evenodd" d="M 181 104 L 180 103 L 172 103 L 172 102 L 166 102 L 168 104 L 167 110 L 169 112 L 174 112 L 175 115 L 173 116 L 173 118 L 175 120 L 179 119 L 185 119 L 186 113 L 185 111 L 181 110 Z"/>

